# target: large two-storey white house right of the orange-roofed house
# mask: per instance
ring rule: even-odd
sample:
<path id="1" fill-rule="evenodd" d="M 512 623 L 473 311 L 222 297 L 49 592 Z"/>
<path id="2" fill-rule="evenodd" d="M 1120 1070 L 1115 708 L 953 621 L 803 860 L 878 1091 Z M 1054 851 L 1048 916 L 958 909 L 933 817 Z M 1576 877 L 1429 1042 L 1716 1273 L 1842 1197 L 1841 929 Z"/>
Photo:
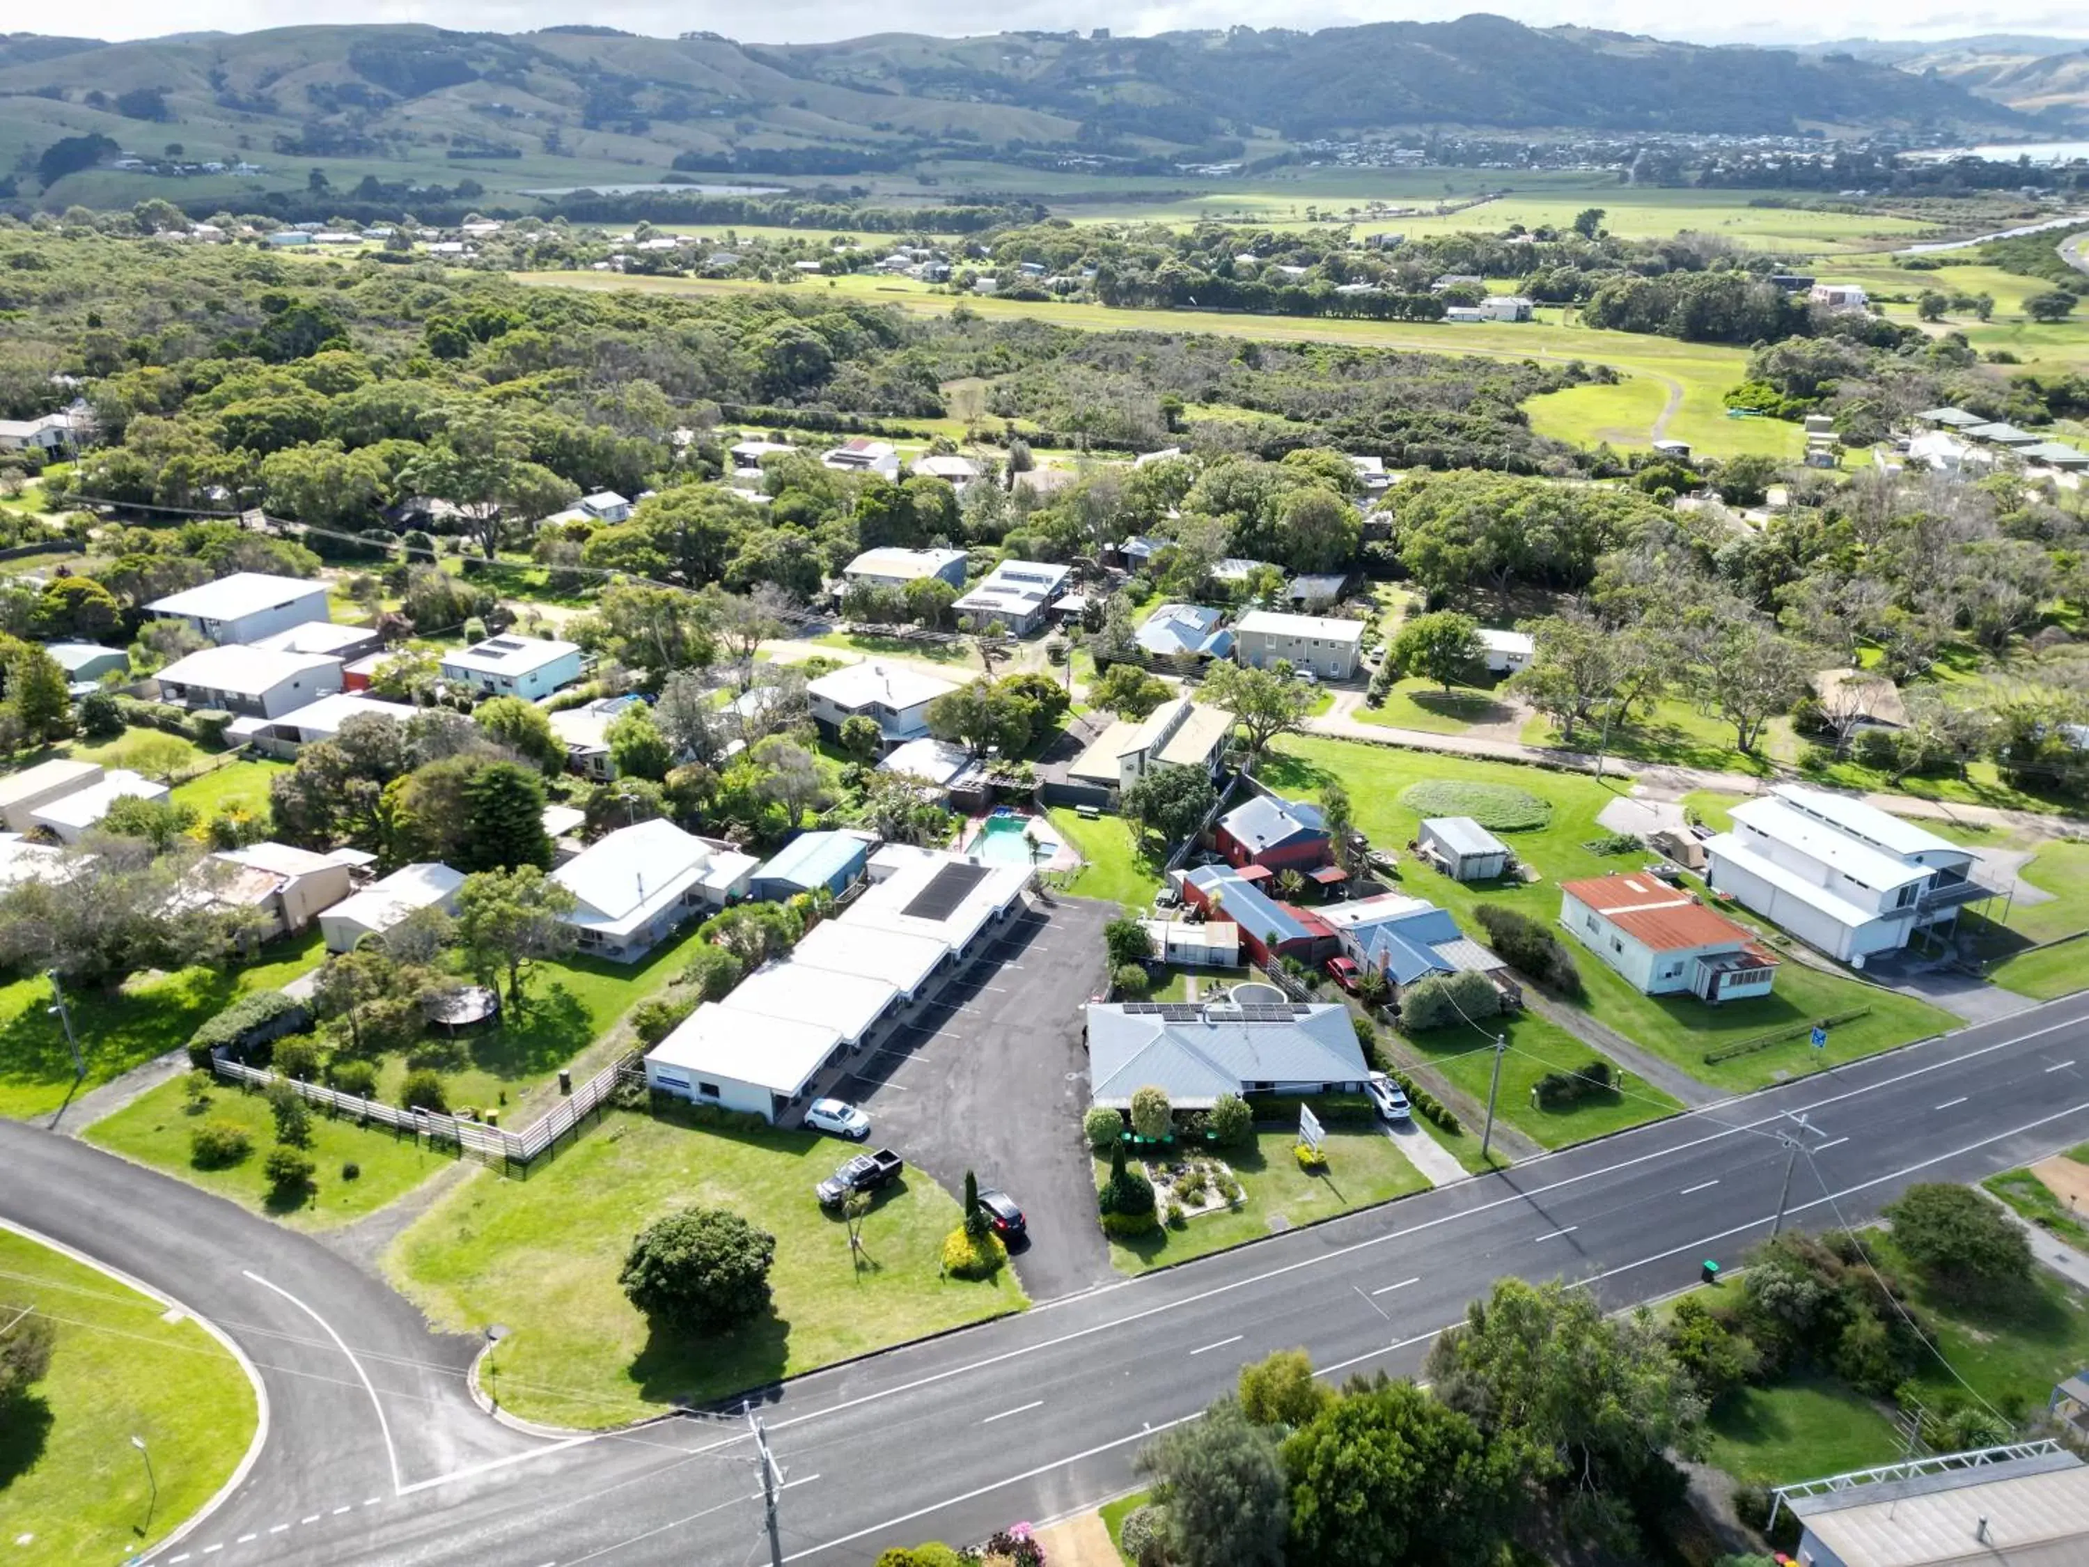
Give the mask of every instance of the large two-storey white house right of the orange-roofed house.
<path id="1" fill-rule="evenodd" d="M 1995 896 L 1970 848 L 1863 800 L 1780 784 L 1728 815 L 1707 884 L 1851 967 Z"/>

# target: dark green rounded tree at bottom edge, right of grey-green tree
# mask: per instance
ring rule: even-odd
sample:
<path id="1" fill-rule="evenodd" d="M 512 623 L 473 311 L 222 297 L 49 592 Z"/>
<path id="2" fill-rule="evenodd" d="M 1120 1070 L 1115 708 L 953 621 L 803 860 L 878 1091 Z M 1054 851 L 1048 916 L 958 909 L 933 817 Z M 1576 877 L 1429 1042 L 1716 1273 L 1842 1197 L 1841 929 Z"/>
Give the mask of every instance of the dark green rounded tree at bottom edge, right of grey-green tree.
<path id="1" fill-rule="evenodd" d="M 1494 1561 L 1515 1521 L 1515 1475 L 1504 1458 L 1489 1452 L 1471 1419 L 1410 1381 L 1327 1402 L 1285 1440 L 1281 1458 L 1291 1486 L 1291 1561 Z"/>

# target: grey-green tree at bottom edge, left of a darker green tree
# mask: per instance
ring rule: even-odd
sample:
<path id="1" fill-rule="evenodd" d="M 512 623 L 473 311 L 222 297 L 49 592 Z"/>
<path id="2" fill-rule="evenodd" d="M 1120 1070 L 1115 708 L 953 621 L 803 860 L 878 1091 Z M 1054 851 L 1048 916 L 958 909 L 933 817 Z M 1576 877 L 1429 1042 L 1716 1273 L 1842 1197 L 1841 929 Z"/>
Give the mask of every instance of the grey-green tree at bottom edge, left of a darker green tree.
<path id="1" fill-rule="evenodd" d="M 1291 1523 L 1285 1475 L 1268 1431 L 1222 1398 L 1201 1421 L 1139 1454 L 1168 1515 L 1176 1567 L 1278 1567 Z"/>

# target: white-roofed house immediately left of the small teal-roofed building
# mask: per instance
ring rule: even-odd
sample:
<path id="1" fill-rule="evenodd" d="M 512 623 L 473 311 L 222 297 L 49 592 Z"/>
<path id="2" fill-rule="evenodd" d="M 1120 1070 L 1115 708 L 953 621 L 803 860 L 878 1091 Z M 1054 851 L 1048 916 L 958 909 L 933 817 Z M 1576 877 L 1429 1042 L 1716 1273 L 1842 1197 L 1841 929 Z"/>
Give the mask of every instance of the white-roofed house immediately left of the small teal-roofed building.
<path id="1" fill-rule="evenodd" d="M 581 951 L 635 963 L 698 913 L 746 896 L 754 857 L 712 848 L 673 821 L 641 821 L 595 840 L 551 871 L 577 898 L 564 915 Z"/>

